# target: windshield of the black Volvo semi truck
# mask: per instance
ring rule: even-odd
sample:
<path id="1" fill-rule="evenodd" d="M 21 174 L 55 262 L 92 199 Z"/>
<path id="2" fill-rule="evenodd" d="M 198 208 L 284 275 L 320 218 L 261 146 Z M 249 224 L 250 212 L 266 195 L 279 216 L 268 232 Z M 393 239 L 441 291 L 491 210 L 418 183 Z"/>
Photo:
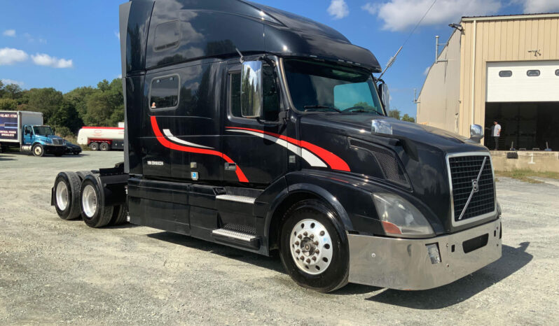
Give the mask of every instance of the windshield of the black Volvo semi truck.
<path id="1" fill-rule="evenodd" d="M 370 73 L 298 59 L 284 67 L 298 111 L 385 115 Z"/>

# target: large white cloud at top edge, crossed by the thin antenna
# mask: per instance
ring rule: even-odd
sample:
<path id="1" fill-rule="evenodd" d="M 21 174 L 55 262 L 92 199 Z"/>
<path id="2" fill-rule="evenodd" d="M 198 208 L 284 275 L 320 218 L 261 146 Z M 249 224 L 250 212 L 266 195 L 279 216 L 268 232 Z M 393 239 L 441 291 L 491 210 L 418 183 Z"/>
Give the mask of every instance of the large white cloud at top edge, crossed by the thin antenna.
<path id="1" fill-rule="evenodd" d="M 366 3 L 361 8 L 383 20 L 385 24 L 382 29 L 407 31 L 417 24 L 432 3 L 433 0 L 389 0 L 382 4 Z M 421 24 L 448 24 L 457 22 L 462 16 L 490 15 L 501 6 L 501 0 L 439 0 Z"/>

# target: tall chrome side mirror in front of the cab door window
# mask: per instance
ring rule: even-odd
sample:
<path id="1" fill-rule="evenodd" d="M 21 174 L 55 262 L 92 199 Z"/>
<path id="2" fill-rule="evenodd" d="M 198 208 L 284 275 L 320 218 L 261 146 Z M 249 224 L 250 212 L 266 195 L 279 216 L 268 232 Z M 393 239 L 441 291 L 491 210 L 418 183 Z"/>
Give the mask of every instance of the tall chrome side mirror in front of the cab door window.
<path id="1" fill-rule="evenodd" d="M 262 62 L 242 63 L 241 114 L 244 118 L 258 118 L 262 112 Z"/>

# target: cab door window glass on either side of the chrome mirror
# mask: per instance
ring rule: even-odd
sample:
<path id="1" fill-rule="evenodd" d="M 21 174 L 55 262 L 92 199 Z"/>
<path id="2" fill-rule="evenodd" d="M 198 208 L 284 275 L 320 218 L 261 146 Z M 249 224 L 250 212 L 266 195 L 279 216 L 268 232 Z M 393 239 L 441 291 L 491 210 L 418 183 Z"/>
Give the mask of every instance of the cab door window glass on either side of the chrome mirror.
<path id="1" fill-rule="evenodd" d="M 279 96 L 277 84 L 274 80 L 273 68 L 263 66 L 263 113 L 264 120 L 277 121 L 279 115 Z M 234 117 L 243 118 L 241 115 L 241 73 L 231 73 L 230 80 L 230 106 Z"/>

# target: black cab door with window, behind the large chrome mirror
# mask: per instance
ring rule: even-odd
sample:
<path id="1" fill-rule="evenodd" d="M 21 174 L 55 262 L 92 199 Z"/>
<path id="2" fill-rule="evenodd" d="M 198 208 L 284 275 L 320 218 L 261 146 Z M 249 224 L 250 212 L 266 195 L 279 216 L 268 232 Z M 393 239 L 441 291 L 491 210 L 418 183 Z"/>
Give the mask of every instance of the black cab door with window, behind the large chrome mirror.
<path id="1" fill-rule="evenodd" d="M 273 68 L 263 66 L 264 120 L 275 122 L 281 110 L 279 87 Z M 227 114 L 223 128 L 223 153 L 232 162 L 224 162 L 223 180 L 226 184 L 242 183 L 265 187 L 287 171 L 287 148 L 279 139 L 285 135 L 285 125 L 263 124 L 256 118 L 241 114 L 241 65 L 228 69 Z M 246 180 L 242 178 L 246 177 Z"/>

